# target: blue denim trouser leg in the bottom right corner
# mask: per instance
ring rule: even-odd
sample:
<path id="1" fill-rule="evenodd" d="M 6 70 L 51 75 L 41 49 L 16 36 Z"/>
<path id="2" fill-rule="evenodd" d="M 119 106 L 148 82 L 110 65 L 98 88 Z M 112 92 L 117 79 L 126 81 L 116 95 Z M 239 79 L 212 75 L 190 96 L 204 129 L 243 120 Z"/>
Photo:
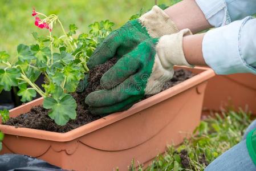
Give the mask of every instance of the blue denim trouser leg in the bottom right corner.
<path id="1" fill-rule="evenodd" d="M 206 171 L 253 171 L 256 170 L 256 166 L 254 165 L 249 153 L 247 151 L 246 146 L 246 136 L 247 134 L 256 128 L 256 120 L 253 121 L 246 129 L 245 135 L 243 136 L 243 140 L 237 145 L 233 146 L 225 153 L 223 153 L 220 157 L 216 158 L 210 165 L 208 165 L 205 170 Z"/>

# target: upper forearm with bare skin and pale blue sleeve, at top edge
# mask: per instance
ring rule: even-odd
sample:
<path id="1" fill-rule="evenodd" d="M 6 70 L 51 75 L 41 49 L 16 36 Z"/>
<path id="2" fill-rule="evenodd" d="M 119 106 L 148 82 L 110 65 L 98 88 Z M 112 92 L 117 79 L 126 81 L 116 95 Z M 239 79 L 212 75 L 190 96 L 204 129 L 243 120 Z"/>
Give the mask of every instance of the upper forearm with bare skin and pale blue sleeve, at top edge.
<path id="1" fill-rule="evenodd" d="M 196 33 L 256 14 L 256 0 L 184 0 L 170 6 L 165 13 L 179 30 L 190 28 Z"/>

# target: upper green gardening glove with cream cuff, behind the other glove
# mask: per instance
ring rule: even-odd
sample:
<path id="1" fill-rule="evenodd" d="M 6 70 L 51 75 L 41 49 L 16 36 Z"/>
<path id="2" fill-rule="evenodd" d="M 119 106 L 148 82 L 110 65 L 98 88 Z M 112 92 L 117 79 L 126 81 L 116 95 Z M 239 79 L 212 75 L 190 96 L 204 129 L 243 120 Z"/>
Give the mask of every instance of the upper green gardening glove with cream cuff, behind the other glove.
<path id="1" fill-rule="evenodd" d="M 127 22 L 123 27 L 111 32 L 108 37 L 96 48 L 94 54 L 87 62 L 92 69 L 98 64 L 103 64 L 114 56 L 121 56 L 132 51 L 145 39 L 158 38 L 178 32 L 178 28 L 171 19 L 158 6 L 142 15 L 139 19 Z M 86 80 L 83 84 L 87 84 Z M 79 92 L 86 86 L 80 85 Z"/>

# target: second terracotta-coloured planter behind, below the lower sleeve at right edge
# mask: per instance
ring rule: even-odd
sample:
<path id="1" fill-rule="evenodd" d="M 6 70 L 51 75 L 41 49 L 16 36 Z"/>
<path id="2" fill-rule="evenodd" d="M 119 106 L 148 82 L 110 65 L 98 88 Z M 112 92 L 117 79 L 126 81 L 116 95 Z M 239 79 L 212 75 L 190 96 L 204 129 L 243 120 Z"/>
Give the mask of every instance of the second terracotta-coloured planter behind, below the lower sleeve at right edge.
<path id="1" fill-rule="evenodd" d="M 256 75 L 217 75 L 205 90 L 204 113 L 226 108 L 249 109 L 256 115 Z"/>

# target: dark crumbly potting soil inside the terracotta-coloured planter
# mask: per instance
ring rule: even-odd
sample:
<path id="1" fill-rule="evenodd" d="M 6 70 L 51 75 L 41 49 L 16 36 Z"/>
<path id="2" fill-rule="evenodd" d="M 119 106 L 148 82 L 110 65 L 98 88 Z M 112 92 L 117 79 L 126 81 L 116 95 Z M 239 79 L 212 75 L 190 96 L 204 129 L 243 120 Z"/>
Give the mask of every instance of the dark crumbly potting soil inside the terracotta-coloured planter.
<path id="1" fill-rule="evenodd" d="M 18 117 L 10 118 L 6 125 L 13 125 L 15 127 L 25 127 L 32 129 L 40 129 L 51 132 L 68 132 L 72 129 L 81 127 L 82 125 L 91 123 L 94 120 L 100 119 L 102 116 L 91 115 L 90 111 L 87 110 L 87 105 L 84 103 L 85 97 L 93 91 L 101 89 L 100 87 L 100 78 L 101 76 L 109 70 L 117 62 L 116 58 L 108 60 L 108 62 L 96 66 L 89 72 L 88 85 L 86 91 L 83 93 L 72 93 L 72 96 L 76 100 L 76 119 L 70 120 L 64 126 L 55 124 L 54 120 L 50 119 L 48 116 L 48 109 L 44 109 L 42 105 L 32 107 L 31 110 L 27 113 L 19 115 Z M 162 91 L 168 89 L 172 86 L 175 86 L 178 83 L 184 82 L 186 79 L 189 79 L 194 74 L 188 70 L 178 69 L 174 72 L 173 78 L 164 84 Z M 145 98 L 150 96 L 145 96 Z"/>

